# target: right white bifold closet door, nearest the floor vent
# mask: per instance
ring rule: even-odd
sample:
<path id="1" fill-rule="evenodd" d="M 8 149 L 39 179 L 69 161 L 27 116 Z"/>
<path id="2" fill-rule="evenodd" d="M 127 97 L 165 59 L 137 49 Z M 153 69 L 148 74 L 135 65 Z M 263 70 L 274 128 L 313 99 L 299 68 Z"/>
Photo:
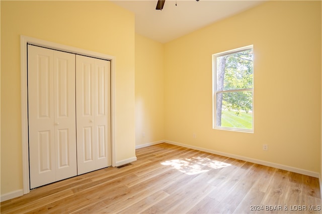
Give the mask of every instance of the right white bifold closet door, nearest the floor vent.
<path id="1" fill-rule="evenodd" d="M 111 165 L 110 61 L 76 56 L 77 173 Z"/>

